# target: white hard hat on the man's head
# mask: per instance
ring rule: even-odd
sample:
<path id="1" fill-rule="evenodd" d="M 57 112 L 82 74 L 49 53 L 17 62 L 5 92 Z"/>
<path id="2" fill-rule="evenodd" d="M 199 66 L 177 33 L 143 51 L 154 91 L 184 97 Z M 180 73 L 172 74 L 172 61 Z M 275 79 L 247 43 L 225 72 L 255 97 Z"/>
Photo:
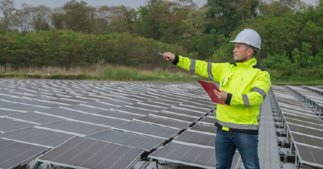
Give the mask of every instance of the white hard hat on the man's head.
<path id="1" fill-rule="evenodd" d="M 261 46 L 261 38 L 259 34 L 253 29 L 244 29 L 241 31 L 234 40 L 234 43 L 243 43 L 254 47 L 254 50 L 259 53 Z"/>

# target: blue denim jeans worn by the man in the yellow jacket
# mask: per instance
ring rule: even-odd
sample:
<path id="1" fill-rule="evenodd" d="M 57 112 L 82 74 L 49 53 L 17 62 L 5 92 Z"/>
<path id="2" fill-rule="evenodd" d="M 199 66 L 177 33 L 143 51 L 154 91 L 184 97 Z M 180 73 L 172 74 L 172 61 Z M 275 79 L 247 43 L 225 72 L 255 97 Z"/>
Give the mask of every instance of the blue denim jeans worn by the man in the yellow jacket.
<path id="1" fill-rule="evenodd" d="M 236 149 L 238 149 L 246 169 L 260 169 L 257 135 L 226 132 L 218 128 L 216 137 L 217 169 L 231 168 Z"/>

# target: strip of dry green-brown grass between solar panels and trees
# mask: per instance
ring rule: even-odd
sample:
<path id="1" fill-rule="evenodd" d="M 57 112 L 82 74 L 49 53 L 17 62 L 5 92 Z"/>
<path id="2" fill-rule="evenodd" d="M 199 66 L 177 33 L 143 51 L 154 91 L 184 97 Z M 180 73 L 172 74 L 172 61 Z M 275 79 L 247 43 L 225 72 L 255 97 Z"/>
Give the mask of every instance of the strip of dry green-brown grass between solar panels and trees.
<path id="1" fill-rule="evenodd" d="M 48 75 L 49 73 L 49 75 Z M 270 72 L 269 72 L 270 73 Z M 197 82 L 208 78 L 187 71 L 171 73 L 167 70 L 142 71 L 136 68 L 98 66 L 88 68 L 19 68 L 17 70 L 0 67 L 0 78 L 18 79 L 66 79 L 66 80 L 125 80 L 125 81 L 170 81 L 170 82 Z M 281 76 L 271 74 L 273 84 L 323 84 L 323 78 L 311 76 Z"/>

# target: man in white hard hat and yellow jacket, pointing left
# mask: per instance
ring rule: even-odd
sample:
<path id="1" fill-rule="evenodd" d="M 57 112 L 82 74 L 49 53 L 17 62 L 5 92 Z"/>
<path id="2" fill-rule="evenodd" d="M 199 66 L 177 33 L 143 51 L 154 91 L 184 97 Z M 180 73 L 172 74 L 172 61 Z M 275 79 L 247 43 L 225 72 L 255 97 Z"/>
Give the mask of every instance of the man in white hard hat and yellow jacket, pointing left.
<path id="1" fill-rule="evenodd" d="M 245 29 L 231 41 L 235 43 L 235 64 L 214 64 L 189 59 L 173 53 L 164 53 L 168 61 L 188 71 L 220 82 L 220 92 L 214 94 L 228 105 L 218 104 L 216 159 L 217 169 L 231 168 L 238 149 L 245 168 L 260 168 L 258 158 L 257 118 L 259 105 L 271 86 L 266 69 L 256 64 L 254 55 L 260 52 L 261 38 L 252 29 Z"/>

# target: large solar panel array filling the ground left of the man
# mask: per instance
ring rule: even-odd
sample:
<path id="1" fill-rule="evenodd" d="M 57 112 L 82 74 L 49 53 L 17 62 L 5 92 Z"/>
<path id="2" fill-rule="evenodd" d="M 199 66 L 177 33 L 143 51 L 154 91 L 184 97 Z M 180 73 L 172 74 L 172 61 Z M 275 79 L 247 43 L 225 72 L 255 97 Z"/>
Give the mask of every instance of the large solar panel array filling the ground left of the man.
<path id="1" fill-rule="evenodd" d="M 216 107 L 197 84 L 2 79 L 0 152 L 5 139 L 41 149 L 27 160 L 51 149 L 36 160 L 127 168 L 143 152 L 159 154 L 176 144 L 197 150 L 199 157 L 168 161 L 213 168 Z"/>

